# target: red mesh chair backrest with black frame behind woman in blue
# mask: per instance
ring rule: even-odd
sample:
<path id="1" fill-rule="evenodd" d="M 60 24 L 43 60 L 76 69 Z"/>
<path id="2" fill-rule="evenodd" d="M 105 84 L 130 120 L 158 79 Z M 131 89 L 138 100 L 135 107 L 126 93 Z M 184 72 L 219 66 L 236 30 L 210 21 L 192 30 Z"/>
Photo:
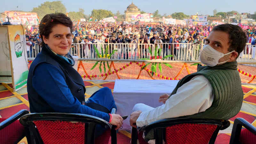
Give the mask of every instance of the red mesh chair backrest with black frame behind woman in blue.
<path id="1" fill-rule="evenodd" d="M 112 127 L 98 117 L 74 113 L 30 113 L 20 123 L 29 127 L 31 143 L 36 144 L 93 144 L 97 124 Z"/>

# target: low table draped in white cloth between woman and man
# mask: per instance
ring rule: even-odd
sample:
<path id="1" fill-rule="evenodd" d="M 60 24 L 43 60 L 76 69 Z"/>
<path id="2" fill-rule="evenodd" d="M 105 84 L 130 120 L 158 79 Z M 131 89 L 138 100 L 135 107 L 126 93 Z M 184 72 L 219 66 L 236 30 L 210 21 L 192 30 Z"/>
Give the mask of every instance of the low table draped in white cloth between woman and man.
<path id="1" fill-rule="evenodd" d="M 179 80 L 116 79 L 113 95 L 117 114 L 128 115 L 124 120 L 123 129 L 131 129 L 130 114 L 135 104 L 161 106 L 163 103 L 158 102 L 160 95 L 171 94 L 178 82 Z"/>

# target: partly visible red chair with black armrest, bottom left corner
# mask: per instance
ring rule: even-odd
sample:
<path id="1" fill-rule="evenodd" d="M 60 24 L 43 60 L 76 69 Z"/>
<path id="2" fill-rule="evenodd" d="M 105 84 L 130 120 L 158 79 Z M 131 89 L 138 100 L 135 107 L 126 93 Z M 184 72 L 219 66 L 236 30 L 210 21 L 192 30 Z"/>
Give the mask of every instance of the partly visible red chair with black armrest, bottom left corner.
<path id="1" fill-rule="evenodd" d="M 28 110 L 20 110 L 8 119 L 0 118 L 0 144 L 17 144 L 26 136 L 27 129 L 18 119 L 27 113 Z"/>

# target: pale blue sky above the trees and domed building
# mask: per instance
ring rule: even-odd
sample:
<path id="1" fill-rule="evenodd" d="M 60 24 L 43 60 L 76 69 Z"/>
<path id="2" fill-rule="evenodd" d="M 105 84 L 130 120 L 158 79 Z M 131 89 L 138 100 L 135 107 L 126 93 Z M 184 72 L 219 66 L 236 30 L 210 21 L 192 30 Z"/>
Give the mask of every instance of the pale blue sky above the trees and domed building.
<path id="1" fill-rule="evenodd" d="M 1 1 L 0 12 L 4 12 L 6 10 L 31 11 L 46 0 Z M 113 13 L 119 10 L 121 14 L 124 14 L 124 10 L 132 3 L 132 0 L 62 0 L 62 3 L 66 6 L 67 12 L 78 11 L 79 8 L 83 8 L 86 15 L 90 15 L 93 9 L 111 10 Z M 158 10 L 161 15 L 165 13 L 170 15 L 174 12 L 183 12 L 186 15 L 195 15 L 197 12 L 198 15 L 213 15 L 214 9 L 217 12 L 236 10 L 239 13 L 247 12 L 251 14 L 256 11 L 255 0 L 246 0 L 246 3 L 238 0 L 133 0 L 133 3 L 145 12 L 153 13 Z M 249 6 L 248 3 L 250 3 Z"/>

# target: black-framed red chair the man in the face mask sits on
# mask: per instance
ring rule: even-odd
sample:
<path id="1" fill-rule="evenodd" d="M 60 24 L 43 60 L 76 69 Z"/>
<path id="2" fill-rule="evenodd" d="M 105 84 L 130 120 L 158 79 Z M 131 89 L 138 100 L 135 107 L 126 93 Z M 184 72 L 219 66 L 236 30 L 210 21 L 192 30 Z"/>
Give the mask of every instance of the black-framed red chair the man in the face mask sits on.
<path id="1" fill-rule="evenodd" d="M 152 122 L 146 126 L 132 128 L 132 144 L 147 144 L 142 133 L 154 130 L 156 144 L 214 144 L 219 130 L 229 127 L 228 120 L 207 120 L 191 118 L 170 118 Z"/>

